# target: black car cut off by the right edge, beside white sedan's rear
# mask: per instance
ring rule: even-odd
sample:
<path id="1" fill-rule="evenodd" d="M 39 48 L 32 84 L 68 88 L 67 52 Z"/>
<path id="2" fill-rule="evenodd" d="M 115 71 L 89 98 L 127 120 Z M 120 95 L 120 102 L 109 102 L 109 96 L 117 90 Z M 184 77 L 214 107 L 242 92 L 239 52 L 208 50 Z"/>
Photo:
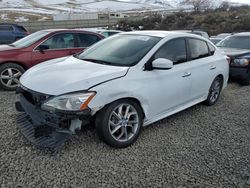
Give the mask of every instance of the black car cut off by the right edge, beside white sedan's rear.
<path id="1" fill-rule="evenodd" d="M 250 85 L 250 32 L 226 37 L 217 44 L 231 58 L 230 77 Z"/>

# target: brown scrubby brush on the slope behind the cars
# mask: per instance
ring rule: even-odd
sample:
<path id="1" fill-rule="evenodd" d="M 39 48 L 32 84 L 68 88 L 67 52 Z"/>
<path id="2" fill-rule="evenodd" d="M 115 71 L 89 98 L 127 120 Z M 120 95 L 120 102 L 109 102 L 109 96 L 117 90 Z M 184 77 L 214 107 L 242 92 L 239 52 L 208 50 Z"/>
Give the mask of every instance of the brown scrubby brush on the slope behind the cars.
<path id="1" fill-rule="evenodd" d="M 129 31 L 159 29 L 200 29 L 210 35 L 222 32 L 250 31 L 250 7 L 221 6 L 215 10 L 203 12 L 178 12 L 169 15 L 155 14 L 140 21 L 121 21 L 118 25 L 121 30 Z"/>

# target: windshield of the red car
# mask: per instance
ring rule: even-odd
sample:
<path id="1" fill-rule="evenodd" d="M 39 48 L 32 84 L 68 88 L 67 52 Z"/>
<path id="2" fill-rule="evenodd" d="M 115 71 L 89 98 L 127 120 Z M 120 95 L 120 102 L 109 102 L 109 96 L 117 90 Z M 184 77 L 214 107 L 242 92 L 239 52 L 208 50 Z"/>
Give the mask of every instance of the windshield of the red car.
<path id="1" fill-rule="evenodd" d="M 50 33 L 50 31 L 37 31 L 35 33 L 28 35 L 27 37 L 24 37 L 24 38 L 14 42 L 14 43 L 12 43 L 11 45 L 13 45 L 15 47 L 19 47 L 19 48 L 28 47 L 28 46 L 34 44 L 36 41 L 43 38 L 44 36 L 46 36 L 48 33 Z"/>

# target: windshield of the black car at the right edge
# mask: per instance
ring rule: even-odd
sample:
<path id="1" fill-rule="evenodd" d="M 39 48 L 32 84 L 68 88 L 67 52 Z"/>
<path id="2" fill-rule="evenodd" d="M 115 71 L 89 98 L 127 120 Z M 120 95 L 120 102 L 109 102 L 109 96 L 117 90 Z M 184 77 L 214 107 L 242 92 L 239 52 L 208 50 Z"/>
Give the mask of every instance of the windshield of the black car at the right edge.
<path id="1" fill-rule="evenodd" d="M 224 48 L 250 49 L 250 36 L 230 36 L 220 41 L 216 46 Z"/>

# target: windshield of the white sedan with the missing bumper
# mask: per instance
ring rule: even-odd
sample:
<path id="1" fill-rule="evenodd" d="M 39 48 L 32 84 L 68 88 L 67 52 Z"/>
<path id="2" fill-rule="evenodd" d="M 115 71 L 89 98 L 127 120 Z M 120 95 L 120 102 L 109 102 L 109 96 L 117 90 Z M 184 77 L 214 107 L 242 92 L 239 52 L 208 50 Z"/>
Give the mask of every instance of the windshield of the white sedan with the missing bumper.
<path id="1" fill-rule="evenodd" d="M 86 50 L 77 58 L 100 64 L 133 66 L 161 38 L 142 35 L 116 35 Z"/>

